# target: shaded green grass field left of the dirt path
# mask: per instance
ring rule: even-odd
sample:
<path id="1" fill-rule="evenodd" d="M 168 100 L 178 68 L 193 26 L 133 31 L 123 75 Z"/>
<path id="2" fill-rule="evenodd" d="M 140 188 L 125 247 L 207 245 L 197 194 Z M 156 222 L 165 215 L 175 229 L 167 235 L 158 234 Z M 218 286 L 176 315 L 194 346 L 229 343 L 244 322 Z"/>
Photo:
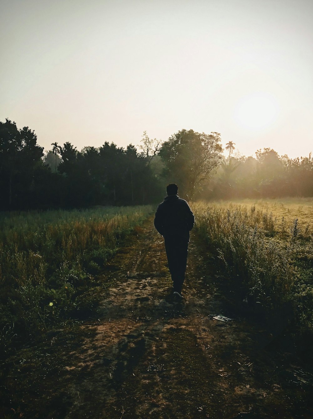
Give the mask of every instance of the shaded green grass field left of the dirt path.
<path id="1" fill-rule="evenodd" d="M 0 359 L 46 329 L 88 315 L 91 288 L 150 206 L 0 214 Z"/>

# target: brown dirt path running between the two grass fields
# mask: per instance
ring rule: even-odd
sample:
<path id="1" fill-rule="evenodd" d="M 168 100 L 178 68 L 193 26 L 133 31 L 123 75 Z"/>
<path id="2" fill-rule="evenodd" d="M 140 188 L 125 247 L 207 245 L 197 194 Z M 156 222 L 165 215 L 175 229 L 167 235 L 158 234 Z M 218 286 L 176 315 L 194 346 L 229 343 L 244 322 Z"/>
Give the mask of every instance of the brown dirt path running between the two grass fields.
<path id="1" fill-rule="evenodd" d="M 236 307 L 209 260 L 192 233 L 183 299 L 173 298 L 147 220 L 104 272 L 97 319 L 21 353 L 12 417 L 313 418 L 312 365 Z"/>

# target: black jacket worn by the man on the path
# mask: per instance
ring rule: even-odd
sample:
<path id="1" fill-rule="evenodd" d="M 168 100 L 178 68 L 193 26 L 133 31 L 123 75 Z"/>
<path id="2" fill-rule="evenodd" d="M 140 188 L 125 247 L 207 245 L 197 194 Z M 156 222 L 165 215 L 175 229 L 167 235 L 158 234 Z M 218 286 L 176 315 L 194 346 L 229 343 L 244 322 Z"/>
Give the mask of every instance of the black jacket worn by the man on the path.
<path id="1" fill-rule="evenodd" d="M 195 216 L 189 205 L 177 195 L 164 198 L 156 210 L 154 226 L 165 239 L 185 238 L 189 241 L 189 231 L 194 225 Z"/>

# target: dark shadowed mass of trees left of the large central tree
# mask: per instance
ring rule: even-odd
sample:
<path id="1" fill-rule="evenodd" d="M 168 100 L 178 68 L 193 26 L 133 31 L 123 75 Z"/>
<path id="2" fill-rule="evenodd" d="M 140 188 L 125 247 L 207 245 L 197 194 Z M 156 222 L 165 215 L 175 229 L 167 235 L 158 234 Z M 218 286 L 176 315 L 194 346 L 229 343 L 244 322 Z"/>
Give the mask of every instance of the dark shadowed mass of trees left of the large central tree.
<path id="1" fill-rule="evenodd" d="M 152 142 L 138 152 L 113 142 L 77 151 L 53 143 L 46 156 L 33 131 L 0 122 L 0 209 L 71 208 L 157 202 L 164 185 L 152 164 Z"/>

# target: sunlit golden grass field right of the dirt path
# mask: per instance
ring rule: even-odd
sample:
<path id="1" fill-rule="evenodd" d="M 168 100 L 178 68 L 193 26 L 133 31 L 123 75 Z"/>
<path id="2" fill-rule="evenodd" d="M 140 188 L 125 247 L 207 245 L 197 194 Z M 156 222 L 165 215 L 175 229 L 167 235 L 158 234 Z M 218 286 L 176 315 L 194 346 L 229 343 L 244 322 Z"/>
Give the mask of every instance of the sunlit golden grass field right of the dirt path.
<path id="1" fill-rule="evenodd" d="M 243 300 L 313 334 L 313 199 L 195 203 L 196 229 Z"/>

